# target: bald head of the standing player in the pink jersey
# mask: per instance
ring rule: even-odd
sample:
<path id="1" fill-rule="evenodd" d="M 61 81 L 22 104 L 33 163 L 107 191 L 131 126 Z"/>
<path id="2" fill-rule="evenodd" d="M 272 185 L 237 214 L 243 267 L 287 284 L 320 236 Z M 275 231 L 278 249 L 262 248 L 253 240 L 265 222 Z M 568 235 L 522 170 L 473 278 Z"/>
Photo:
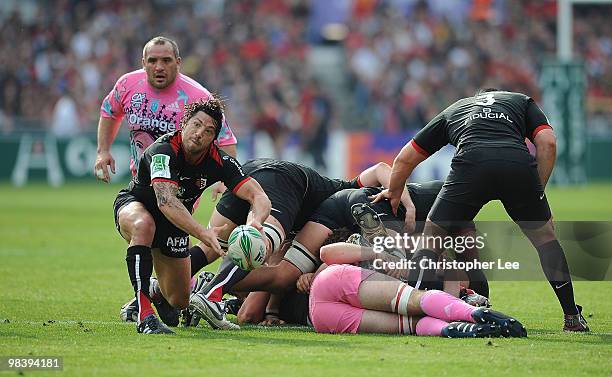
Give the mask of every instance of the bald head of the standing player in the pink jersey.
<path id="1" fill-rule="evenodd" d="M 155 37 L 142 49 L 142 67 L 147 72 L 147 81 L 157 89 L 164 89 L 176 80 L 181 57 L 175 41 L 166 37 Z"/>

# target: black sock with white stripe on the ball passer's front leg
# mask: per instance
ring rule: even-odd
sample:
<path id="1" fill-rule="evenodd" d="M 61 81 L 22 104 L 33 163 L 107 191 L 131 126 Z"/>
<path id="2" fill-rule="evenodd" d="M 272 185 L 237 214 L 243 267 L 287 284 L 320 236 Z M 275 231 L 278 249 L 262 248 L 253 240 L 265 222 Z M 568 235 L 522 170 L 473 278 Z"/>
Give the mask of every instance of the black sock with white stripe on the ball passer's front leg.
<path id="1" fill-rule="evenodd" d="M 150 279 L 153 273 L 151 248 L 141 245 L 130 246 L 127 249 L 125 261 L 134 295 L 139 304 L 139 318 L 143 320 L 149 314 L 153 314 L 149 296 Z"/>

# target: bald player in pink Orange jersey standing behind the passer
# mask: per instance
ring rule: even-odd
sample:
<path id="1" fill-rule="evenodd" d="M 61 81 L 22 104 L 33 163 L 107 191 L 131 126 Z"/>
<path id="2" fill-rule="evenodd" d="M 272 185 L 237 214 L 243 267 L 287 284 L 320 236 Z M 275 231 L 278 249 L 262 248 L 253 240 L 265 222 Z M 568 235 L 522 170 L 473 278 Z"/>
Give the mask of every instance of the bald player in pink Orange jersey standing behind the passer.
<path id="1" fill-rule="evenodd" d="M 184 106 L 211 98 L 206 88 L 179 72 L 180 66 L 177 43 L 166 37 L 155 37 L 142 49 L 142 69 L 121 76 L 104 98 L 94 165 L 94 174 L 99 180 L 110 181 L 109 167 L 115 173 L 110 147 L 124 118 L 130 130 L 130 170 L 136 175 L 145 148 L 163 134 L 180 129 Z M 236 142 L 224 118 L 215 143 L 236 157 Z"/>

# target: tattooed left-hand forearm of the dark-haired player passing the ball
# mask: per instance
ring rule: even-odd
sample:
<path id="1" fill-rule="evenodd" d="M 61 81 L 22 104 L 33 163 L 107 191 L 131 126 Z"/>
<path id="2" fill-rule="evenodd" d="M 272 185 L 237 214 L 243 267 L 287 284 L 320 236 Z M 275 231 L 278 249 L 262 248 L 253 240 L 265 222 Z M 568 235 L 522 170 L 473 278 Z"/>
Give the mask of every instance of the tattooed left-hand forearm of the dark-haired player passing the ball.
<path id="1" fill-rule="evenodd" d="M 178 186 L 176 184 L 171 182 L 153 182 L 153 190 L 155 191 L 159 210 L 172 224 L 202 241 L 217 254 L 223 255 L 216 236 L 216 232 L 220 228 L 206 229 L 198 223 L 177 198 Z"/>

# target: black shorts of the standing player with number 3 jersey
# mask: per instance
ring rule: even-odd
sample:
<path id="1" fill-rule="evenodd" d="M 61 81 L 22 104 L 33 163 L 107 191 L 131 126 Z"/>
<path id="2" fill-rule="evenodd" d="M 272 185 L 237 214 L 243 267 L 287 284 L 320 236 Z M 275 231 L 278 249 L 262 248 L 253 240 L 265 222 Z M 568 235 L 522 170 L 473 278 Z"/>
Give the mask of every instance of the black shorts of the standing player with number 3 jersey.
<path id="1" fill-rule="evenodd" d="M 510 148 L 472 149 L 456 155 L 429 217 L 446 229 L 462 227 L 496 199 L 522 228 L 539 228 L 550 219 L 535 158 Z"/>

